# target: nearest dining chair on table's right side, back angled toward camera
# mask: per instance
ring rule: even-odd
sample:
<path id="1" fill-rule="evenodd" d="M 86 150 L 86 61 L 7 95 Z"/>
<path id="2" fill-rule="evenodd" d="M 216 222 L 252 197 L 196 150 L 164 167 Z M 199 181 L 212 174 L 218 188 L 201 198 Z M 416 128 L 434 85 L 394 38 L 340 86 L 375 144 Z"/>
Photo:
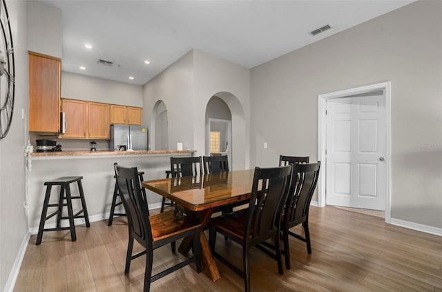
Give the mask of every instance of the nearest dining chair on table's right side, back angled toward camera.
<path id="1" fill-rule="evenodd" d="M 229 266 L 232 271 L 244 278 L 244 291 L 249 292 L 249 249 L 257 246 L 278 263 L 278 272 L 282 275 L 282 260 L 279 246 L 280 216 L 287 199 L 287 184 L 290 183 L 291 165 L 275 168 L 255 168 L 249 207 L 233 213 L 213 217 L 209 221 L 209 246 L 213 255 Z M 215 251 L 217 233 L 238 242 L 242 246 L 243 269 L 231 264 Z M 258 246 L 261 242 L 273 239 L 273 251 Z"/>

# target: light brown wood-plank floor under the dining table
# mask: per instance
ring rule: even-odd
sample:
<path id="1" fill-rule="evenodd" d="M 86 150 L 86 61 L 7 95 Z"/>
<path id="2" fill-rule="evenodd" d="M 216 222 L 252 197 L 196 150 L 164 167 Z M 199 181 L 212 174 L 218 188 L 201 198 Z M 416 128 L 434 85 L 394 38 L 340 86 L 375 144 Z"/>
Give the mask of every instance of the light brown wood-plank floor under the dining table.
<path id="1" fill-rule="evenodd" d="M 32 235 L 15 284 L 24 291 L 142 291 L 144 257 L 124 275 L 126 219 Z M 276 262 L 251 250 L 252 291 L 433 291 L 442 292 L 442 237 L 385 224 L 378 217 L 327 206 L 310 208 L 312 254 L 291 238 L 291 270 L 279 275 Z M 294 228 L 300 231 L 300 228 Z M 135 248 L 136 249 L 136 248 Z M 140 249 L 140 246 L 137 246 Z M 240 246 L 217 240 L 217 250 L 237 264 Z M 176 262 L 169 246 L 155 251 L 154 273 Z M 151 291 L 242 291 L 242 279 L 218 262 L 222 279 L 209 280 L 195 265 L 153 282 Z"/>

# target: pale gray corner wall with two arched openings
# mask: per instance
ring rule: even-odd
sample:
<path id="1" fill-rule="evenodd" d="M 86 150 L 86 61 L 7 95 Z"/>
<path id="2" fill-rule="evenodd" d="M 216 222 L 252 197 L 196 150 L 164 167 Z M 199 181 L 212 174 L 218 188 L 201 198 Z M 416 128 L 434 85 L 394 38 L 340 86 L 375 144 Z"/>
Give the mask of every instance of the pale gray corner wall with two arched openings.
<path id="1" fill-rule="evenodd" d="M 143 121 L 151 121 L 153 107 L 163 101 L 169 120 L 169 149 L 182 142 L 184 150 L 197 150 L 195 155 L 204 155 L 206 105 L 217 93 L 228 93 L 221 98 L 232 113 L 232 168 L 244 169 L 249 164 L 247 68 L 191 50 L 144 85 Z"/>

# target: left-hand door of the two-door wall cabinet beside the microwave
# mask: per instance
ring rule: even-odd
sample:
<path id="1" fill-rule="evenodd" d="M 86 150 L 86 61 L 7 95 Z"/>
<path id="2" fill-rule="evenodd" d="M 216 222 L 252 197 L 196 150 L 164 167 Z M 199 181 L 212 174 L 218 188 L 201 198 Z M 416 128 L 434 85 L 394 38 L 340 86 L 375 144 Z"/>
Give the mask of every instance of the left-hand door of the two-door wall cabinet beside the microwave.
<path id="1" fill-rule="evenodd" d="M 86 101 L 62 99 L 61 107 L 66 117 L 66 133 L 61 138 L 85 139 L 86 136 Z"/>

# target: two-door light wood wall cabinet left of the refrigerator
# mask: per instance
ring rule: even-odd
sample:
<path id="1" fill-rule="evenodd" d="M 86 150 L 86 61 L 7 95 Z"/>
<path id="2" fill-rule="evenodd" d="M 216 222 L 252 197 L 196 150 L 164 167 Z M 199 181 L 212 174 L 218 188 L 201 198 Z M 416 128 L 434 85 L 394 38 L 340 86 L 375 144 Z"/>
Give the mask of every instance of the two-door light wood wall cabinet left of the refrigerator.
<path id="1" fill-rule="evenodd" d="M 75 99 L 61 99 L 66 133 L 60 138 L 111 139 L 109 105 Z"/>

